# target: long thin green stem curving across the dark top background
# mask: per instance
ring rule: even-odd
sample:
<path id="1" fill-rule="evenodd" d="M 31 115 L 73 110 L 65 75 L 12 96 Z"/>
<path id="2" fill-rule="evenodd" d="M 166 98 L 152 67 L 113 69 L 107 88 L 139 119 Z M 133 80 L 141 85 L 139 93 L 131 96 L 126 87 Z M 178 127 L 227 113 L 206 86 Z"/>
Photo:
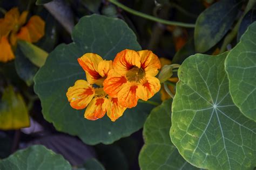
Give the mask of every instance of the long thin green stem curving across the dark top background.
<path id="1" fill-rule="evenodd" d="M 157 18 L 157 17 L 147 15 L 143 12 L 139 12 L 139 11 L 133 10 L 131 8 L 128 8 L 127 6 L 117 2 L 116 0 L 109 0 L 109 2 L 117 5 L 119 8 L 121 8 L 121 9 L 127 11 L 127 12 L 132 13 L 133 15 L 136 15 L 136 16 L 139 16 L 139 17 L 142 17 L 142 18 L 146 18 L 146 19 L 149 19 L 149 20 L 153 20 L 154 22 L 158 22 L 158 23 L 166 24 L 166 25 L 176 25 L 176 26 L 181 26 L 181 27 L 188 27 L 188 28 L 195 27 L 195 24 L 173 22 L 173 21 L 170 21 L 170 20 L 165 20 L 165 19 L 161 19 L 161 18 Z"/>

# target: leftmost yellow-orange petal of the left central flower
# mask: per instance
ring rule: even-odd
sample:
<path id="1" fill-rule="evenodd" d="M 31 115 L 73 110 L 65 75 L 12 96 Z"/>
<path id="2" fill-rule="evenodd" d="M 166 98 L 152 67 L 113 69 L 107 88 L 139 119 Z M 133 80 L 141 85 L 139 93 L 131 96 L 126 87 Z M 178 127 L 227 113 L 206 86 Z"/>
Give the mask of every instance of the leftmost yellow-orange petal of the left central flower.
<path id="1" fill-rule="evenodd" d="M 85 80 L 77 80 L 75 85 L 68 89 L 66 97 L 74 109 L 84 109 L 91 102 L 95 90 Z"/>

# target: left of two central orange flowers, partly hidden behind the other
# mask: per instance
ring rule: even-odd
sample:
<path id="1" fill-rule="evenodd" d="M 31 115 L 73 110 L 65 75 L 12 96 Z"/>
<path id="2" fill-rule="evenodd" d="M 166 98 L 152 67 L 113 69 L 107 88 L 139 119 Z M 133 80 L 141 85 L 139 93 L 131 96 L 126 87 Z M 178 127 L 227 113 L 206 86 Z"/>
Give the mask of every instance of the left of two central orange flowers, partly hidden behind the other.
<path id="1" fill-rule="evenodd" d="M 66 96 L 74 109 L 84 109 L 84 117 L 89 120 L 102 118 L 106 112 L 111 121 L 116 121 L 123 115 L 125 107 L 119 104 L 117 98 L 108 96 L 102 84 L 109 71 L 113 68 L 112 61 L 103 60 L 99 55 L 86 53 L 78 58 L 79 65 L 85 70 L 86 79 L 77 80 L 75 86 L 70 87 Z M 99 87 L 93 87 L 96 84 Z"/>

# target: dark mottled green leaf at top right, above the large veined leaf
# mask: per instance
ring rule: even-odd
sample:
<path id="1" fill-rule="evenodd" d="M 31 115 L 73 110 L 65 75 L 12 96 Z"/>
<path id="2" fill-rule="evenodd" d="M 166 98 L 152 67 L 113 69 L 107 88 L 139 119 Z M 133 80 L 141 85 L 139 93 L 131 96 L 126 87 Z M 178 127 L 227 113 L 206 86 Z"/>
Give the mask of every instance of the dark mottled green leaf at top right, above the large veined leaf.
<path id="1" fill-rule="evenodd" d="M 217 44 L 231 28 L 241 1 L 225 0 L 214 3 L 197 18 L 194 30 L 196 51 L 204 53 Z"/>

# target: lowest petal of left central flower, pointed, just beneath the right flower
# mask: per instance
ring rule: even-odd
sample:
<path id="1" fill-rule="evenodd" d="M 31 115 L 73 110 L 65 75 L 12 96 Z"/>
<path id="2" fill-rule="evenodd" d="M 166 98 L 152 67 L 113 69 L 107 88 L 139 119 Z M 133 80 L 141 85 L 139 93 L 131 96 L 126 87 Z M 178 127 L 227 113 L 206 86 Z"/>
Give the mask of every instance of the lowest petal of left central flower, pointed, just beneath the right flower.
<path id="1" fill-rule="evenodd" d="M 107 105 L 107 116 L 109 116 L 112 122 L 123 116 L 125 109 L 125 107 L 119 104 L 117 98 L 112 98 L 109 96 L 109 104 Z"/>

